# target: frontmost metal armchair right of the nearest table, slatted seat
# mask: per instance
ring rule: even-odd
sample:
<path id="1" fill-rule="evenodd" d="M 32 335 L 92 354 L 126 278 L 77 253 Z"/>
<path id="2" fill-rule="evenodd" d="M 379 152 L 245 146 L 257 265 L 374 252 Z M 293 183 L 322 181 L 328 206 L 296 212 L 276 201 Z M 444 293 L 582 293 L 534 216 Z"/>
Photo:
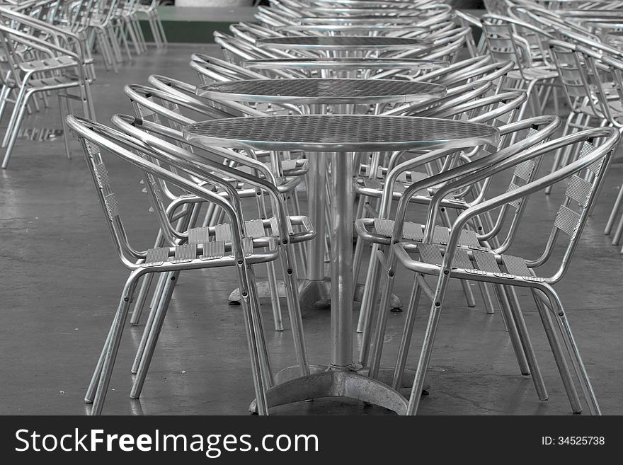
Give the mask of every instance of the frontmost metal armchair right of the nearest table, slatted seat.
<path id="1" fill-rule="evenodd" d="M 594 147 L 593 144 L 590 143 L 591 140 L 600 138 L 605 139 L 605 142 L 603 142 L 600 147 Z M 446 189 L 455 189 L 457 188 L 457 184 L 447 185 L 446 188 L 439 190 L 438 193 L 435 194 L 435 198 L 433 202 L 431 202 L 428 210 L 425 231 L 423 231 L 423 239 L 420 243 L 401 239 L 404 227 L 404 214 L 406 211 L 406 202 L 401 202 L 396 212 L 394 231 L 392 231 L 391 234 L 391 243 L 393 244 L 391 246 L 391 254 L 393 254 L 395 258 L 387 258 L 387 270 L 393 275 L 397 263 L 401 263 L 401 265 L 408 270 L 415 272 L 416 281 L 414 285 L 416 289 L 414 289 L 413 299 L 411 299 L 408 306 L 408 317 L 403 339 L 401 340 L 401 357 L 399 357 L 399 360 L 404 360 L 406 350 L 408 350 L 411 330 L 413 329 L 413 316 L 416 313 L 419 297 L 423 293 L 427 297 L 430 297 L 433 302 L 430 307 L 424 342 L 418 359 L 418 367 L 416 369 L 415 381 L 409 400 L 408 413 L 415 414 L 418 409 L 421 389 L 428 365 L 430 364 L 435 333 L 438 328 L 440 312 L 448 282 L 450 278 L 459 278 L 491 282 L 496 285 L 502 297 L 504 297 L 505 294 L 506 297 L 508 297 L 506 289 L 510 287 L 529 288 L 532 291 L 532 296 L 535 298 L 537 310 L 542 318 L 542 323 L 573 412 L 579 413 L 582 406 L 578 398 L 576 387 L 571 379 L 568 364 L 560 347 L 554 323 L 551 321 L 552 316 L 554 316 L 559 326 L 568 355 L 571 358 L 576 376 L 581 384 L 585 401 L 588 403 L 590 413 L 600 414 L 600 408 L 593 391 L 593 386 L 590 384 L 590 379 L 588 378 L 580 352 L 573 338 L 573 333 L 571 332 L 571 327 L 569 326 L 561 299 L 554 290 L 553 285 L 561 280 L 569 267 L 573 252 L 578 245 L 581 231 L 588 219 L 590 208 L 597 200 L 602 180 L 605 177 L 607 166 L 612 158 L 612 152 L 615 150 L 619 138 L 620 134 L 616 130 L 610 127 L 604 127 L 577 132 L 576 134 L 569 134 L 519 154 L 520 158 L 525 161 L 552 153 L 567 144 L 580 144 L 583 146 L 581 158 L 573 161 L 573 163 L 569 163 L 564 168 L 560 168 L 554 173 L 550 173 L 542 178 L 532 180 L 520 187 L 513 186 L 513 189 L 508 192 L 493 197 L 486 202 L 482 202 L 476 207 L 465 210 L 452 224 L 449 232 L 449 239 L 442 247 L 431 241 L 433 226 L 435 224 L 434 220 L 435 216 L 438 214 L 439 202 L 442 197 L 449 192 Z M 508 166 L 509 163 L 500 163 L 494 168 L 485 169 L 482 173 L 474 173 L 472 176 L 467 176 L 458 184 L 462 185 L 465 182 L 471 182 L 475 178 L 487 176 L 491 171 L 500 171 Z M 585 171 L 590 171 L 591 176 L 585 176 Z M 450 176 L 449 173 L 450 172 L 446 173 L 446 176 Z M 590 178 L 591 180 L 586 180 L 586 178 Z M 469 248 L 459 245 L 464 226 L 466 226 L 471 219 L 474 219 L 474 217 L 484 212 L 491 211 L 492 209 L 503 207 L 504 205 L 511 205 L 515 208 L 525 207 L 525 202 L 530 195 L 543 190 L 547 185 L 561 183 L 566 180 L 568 180 L 568 183 L 564 200 L 556 214 L 556 219 L 554 219 L 551 234 L 545 245 L 544 252 L 538 258 L 526 259 L 507 254 L 506 251 L 510 243 L 498 249 Z M 416 188 L 434 185 L 436 182 L 438 182 L 438 180 L 430 178 L 422 183 L 416 183 L 416 185 L 412 185 L 411 188 L 407 190 L 407 193 L 411 193 L 411 189 L 415 190 Z M 566 243 L 561 244 L 561 265 L 553 275 L 540 277 L 537 275 L 536 270 L 541 265 L 544 265 L 544 263 L 547 263 L 551 258 L 556 242 L 561 234 L 564 234 L 567 238 L 565 241 Z M 409 255 L 413 252 L 418 253 L 418 258 L 412 258 Z M 426 284 L 423 279 L 425 275 L 436 277 L 438 282 L 435 289 Z M 508 300 L 510 303 L 510 314 L 513 319 L 515 319 L 515 323 L 518 323 L 518 328 L 520 328 L 523 326 L 520 324 L 522 321 L 521 311 L 512 296 Z M 525 327 L 520 329 L 520 335 L 522 335 L 522 345 L 527 347 L 530 338 Z M 382 345 L 382 340 L 380 343 Z M 530 361 L 530 358 L 528 360 Z M 533 366 L 532 374 L 534 375 L 535 372 L 537 372 L 535 370 L 535 368 L 537 369 L 536 360 L 532 360 L 531 364 Z M 396 364 L 396 367 L 400 369 L 399 364 Z M 537 386 L 539 398 L 543 400 L 547 399 L 547 391 L 544 391 L 544 385 L 539 389 L 536 381 L 537 379 L 535 379 L 535 385 Z"/>

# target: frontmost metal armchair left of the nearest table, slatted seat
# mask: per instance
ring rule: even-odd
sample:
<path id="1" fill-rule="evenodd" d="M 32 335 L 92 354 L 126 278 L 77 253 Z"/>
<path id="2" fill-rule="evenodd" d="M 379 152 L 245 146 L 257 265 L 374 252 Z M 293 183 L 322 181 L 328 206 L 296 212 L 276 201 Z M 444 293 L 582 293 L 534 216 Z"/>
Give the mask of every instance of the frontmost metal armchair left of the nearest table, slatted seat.
<path id="1" fill-rule="evenodd" d="M 67 125 L 78 134 L 83 144 L 87 165 L 96 187 L 98 199 L 103 207 L 110 233 L 113 236 L 118 258 L 126 268 L 132 270 L 130 278 L 125 284 L 113 325 L 110 327 L 108 338 L 96 364 L 86 396 L 87 401 L 89 401 L 94 393 L 91 414 L 98 415 L 102 411 L 122 330 L 125 326 L 131 297 L 138 278 L 147 273 L 166 273 L 167 282 L 172 283 L 181 270 L 222 266 L 236 268 L 239 285 L 244 289 L 242 307 L 245 316 L 247 343 L 251 353 L 253 384 L 258 400 L 258 410 L 263 414 L 267 413 L 265 389 L 270 386 L 268 378 L 271 374 L 268 366 L 268 354 L 263 341 L 263 328 L 256 299 L 252 265 L 278 258 L 278 241 L 282 238 L 287 242 L 287 235 L 284 236 L 283 233 L 283 231 L 287 231 L 285 223 L 280 223 L 283 228 L 280 229 L 280 233 L 276 237 L 272 236 L 275 231 L 266 234 L 263 223 L 259 224 L 261 234 L 254 237 L 255 234 L 249 234 L 249 231 L 245 229 L 242 212 L 234 190 L 227 188 L 227 183 L 222 180 L 200 170 L 198 166 L 190 166 L 190 163 L 175 163 L 176 160 L 172 157 L 166 157 L 126 134 L 96 122 L 70 115 L 67 117 Z M 120 217 L 120 209 L 105 169 L 102 150 L 137 166 L 144 173 L 145 184 L 151 193 L 152 207 L 159 212 L 158 218 L 161 221 L 161 229 L 169 231 L 172 235 L 172 240 L 164 248 L 139 251 L 130 246 Z M 133 153 L 133 151 L 138 151 L 142 156 Z M 158 164 L 156 161 L 168 165 L 175 163 L 176 171 L 164 168 L 162 163 Z M 229 200 L 225 200 L 223 197 L 212 193 L 210 189 L 191 182 L 188 178 L 183 177 L 183 174 L 205 176 L 205 179 L 209 180 L 210 183 L 216 183 L 229 190 L 231 197 Z M 176 231 L 166 221 L 166 209 L 157 194 L 159 192 L 159 180 L 166 180 L 168 183 L 178 185 L 179 188 L 205 200 L 205 202 L 219 205 L 227 212 L 229 224 L 223 226 L 222 229 L 190 229 L 182 233 Z M 255 251 L 255 246 L 268 247 L 268 251 Z M 138 263 L 137 260 L 139 260 Z M 170 293 L 167 292 L 167 296 L 170 299 Z M 167 305 L 168 301 L 161 302 L 162 307 Z M 162 321 L 154 323 L 156 324 L 154 331 L 150 331 L 152 340 L 157 337 L 159 331 L 157 327 L 161 326 Z M 149 365 L 150 360 L 151 354 L 146 354 L 142 364 Z"/>

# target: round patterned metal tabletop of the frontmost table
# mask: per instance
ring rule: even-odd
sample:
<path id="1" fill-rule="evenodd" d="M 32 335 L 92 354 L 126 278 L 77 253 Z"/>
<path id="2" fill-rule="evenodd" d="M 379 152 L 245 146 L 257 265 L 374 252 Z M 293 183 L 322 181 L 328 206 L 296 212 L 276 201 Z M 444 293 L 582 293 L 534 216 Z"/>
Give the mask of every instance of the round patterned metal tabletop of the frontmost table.
<path id="1" fill-rule="evenodd" d="M 495 144 L 495 127 L 438 118 L 375 115 L 236 117 L 188 125 L 192 142 L 231 149 L 394 151 Z"/>

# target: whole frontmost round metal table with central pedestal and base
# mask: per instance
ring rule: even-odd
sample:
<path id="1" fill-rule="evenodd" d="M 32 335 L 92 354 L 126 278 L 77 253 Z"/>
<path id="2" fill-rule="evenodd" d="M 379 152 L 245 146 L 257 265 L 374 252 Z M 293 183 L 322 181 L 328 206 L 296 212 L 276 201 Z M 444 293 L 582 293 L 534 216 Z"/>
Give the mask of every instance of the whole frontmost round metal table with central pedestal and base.
<path id="1" fill-rule="evenodd" d="M 494 127 L 457 120 L 377 115 L 228 118 L 185 127 L 189 141 L 232 149 L 307 151 L 331 159 L 331 363 L 268 389 L 268 406 L 326 396 L 349 397 L 405 414 L 407 401 L 353 362 L 353 152 L 495 144 Z"/>

